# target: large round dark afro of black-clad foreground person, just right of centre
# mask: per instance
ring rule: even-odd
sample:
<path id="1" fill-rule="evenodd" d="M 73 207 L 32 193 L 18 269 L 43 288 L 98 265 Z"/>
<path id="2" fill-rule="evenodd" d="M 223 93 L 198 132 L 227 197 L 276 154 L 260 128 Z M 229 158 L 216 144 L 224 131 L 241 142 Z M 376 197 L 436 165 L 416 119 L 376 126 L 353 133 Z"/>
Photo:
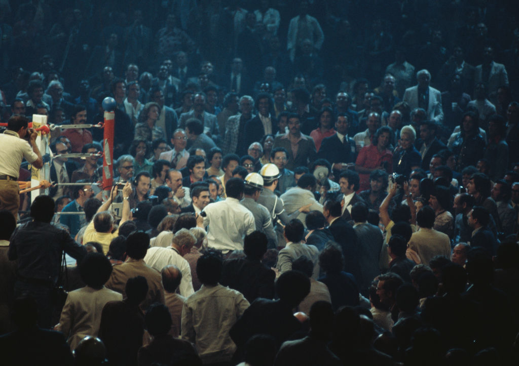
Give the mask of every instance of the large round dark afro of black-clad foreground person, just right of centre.
<path id="1" fill-rule="evenodd" d="M 293 308 L 299 305 L 310 292 L 310 279 L 298 271 L 286 271 L 276 281 L 279 300 Z"/>

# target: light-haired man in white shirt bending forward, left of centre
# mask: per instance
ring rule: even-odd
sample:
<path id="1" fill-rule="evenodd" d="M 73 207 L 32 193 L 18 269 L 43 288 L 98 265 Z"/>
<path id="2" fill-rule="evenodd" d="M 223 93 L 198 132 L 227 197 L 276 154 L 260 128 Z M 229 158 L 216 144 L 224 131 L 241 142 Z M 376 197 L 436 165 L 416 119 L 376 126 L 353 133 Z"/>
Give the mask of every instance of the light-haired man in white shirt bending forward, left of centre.
<path id="1" fill-rule="evenodd" d="M 182 273 L 179 290 L 184 297 L 188 297 L 195 292 L 191 278 L 191 268 L 189 263 L 183 258 L 185 254 L 191 251 L 195 243 L 196 238 L 189 230 L 180 229 L 173 236 L 171 246 L 167 248 L 151 247 L 144 257 L 144 262 L 159 272 L 167 265 L 176 265 Z"/>

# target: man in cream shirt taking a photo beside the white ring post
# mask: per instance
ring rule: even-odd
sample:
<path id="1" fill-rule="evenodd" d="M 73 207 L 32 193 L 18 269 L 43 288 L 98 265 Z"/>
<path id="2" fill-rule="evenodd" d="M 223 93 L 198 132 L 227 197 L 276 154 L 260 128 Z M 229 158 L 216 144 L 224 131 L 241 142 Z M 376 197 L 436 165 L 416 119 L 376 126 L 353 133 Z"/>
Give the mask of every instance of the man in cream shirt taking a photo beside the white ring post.
<path id="1" fill-rule="evenodd" d="M 7 130 L 0 134 L 4 157 L 0 159 L 0 209 L 9 210 L 15 218 L 20 207 L 18 175 L 22 159 L 35 168 L 43 167 L 42 154 L 36 146 L 38 133 L 28 126 L 29 120 L 25 116 L 14 115 L 7 121 Z M 29 135 L 29 143 L 24 139 L 26 135 Z"/>

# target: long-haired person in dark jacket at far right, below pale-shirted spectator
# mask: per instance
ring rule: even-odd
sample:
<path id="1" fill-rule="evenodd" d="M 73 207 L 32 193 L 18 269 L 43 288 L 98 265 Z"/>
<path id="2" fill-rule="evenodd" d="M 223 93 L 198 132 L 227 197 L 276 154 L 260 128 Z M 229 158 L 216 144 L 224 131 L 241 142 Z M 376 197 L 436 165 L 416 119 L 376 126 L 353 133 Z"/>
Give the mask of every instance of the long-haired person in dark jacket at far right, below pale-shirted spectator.
<path id="1" fill-rule="evenodd" d="M 458 161 L 456 171 L 469 165 L 476 165 L 483 158 L 485 139 L 480 134 L 479 116 L 475 112 L 466 112 L 461 119 L 460 132 L 449 138 L 447 147 L 451 149 Z"/>

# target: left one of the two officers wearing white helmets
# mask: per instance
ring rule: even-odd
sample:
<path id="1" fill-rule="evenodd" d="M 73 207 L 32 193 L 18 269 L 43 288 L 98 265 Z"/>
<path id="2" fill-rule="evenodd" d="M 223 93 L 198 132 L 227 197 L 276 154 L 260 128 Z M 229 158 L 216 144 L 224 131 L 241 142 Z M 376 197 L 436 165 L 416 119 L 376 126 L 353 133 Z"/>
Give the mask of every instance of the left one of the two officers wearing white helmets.
<path id="1" fill-rule="evenodd" d="M 276 248 L 278 246 L 278 238 L 272 225 L 272 218 L 267 208 L 257 203 L 260 194 L 263 191 L 263 178 L 260 174 L 250 173 L 245 177 L 244 198 L 241 204 L 249 209 L 254 215 L 256 230 L 267 235 L 268 247 Z"/>

